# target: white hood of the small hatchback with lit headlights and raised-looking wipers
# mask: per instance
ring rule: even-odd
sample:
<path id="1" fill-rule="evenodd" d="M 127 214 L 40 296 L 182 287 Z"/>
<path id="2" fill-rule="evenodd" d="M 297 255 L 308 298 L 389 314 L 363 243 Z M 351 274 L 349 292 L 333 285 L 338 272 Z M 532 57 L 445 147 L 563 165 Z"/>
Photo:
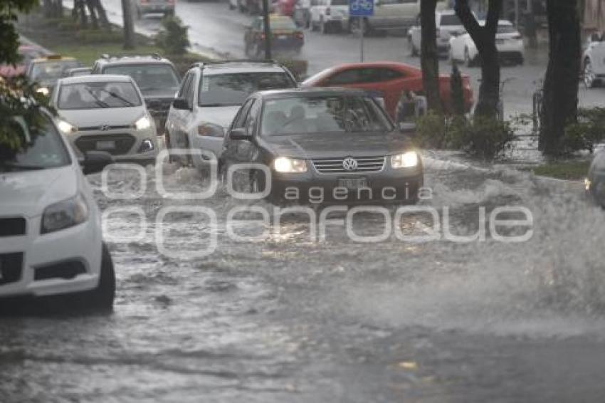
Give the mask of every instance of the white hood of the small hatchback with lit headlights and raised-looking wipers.
<path id="1" fill-rule="evenodd" d="M 87 110 L 58 110 L 59 115 L 77 127 L 100 125 L 132 125 L 144 114 L 144 108 L 99 108 Z"/>

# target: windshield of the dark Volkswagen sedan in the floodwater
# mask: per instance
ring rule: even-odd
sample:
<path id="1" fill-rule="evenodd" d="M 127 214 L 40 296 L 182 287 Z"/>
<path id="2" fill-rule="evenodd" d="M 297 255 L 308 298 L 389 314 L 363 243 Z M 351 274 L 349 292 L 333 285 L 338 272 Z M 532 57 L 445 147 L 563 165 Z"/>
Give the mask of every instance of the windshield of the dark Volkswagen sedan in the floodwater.
<path id="1" fill-rule="evenodd" d="M 384 132 L 393 127 L 374 100 L 365 96 L 330 95 L 268 100 L 262 135 L 325 132 Z"/>

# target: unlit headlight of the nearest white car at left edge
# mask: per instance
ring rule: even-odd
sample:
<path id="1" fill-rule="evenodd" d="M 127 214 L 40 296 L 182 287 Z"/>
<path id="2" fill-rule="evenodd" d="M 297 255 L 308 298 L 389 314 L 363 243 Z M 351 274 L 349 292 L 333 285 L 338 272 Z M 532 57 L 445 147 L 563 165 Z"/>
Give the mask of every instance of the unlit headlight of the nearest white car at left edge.
<path id="1" fill-rule="evenodd" d="M 88 219 L 88 205 L 81 194 L 46 207 L 42 214 L 41 234 L 82 224 Z"/>

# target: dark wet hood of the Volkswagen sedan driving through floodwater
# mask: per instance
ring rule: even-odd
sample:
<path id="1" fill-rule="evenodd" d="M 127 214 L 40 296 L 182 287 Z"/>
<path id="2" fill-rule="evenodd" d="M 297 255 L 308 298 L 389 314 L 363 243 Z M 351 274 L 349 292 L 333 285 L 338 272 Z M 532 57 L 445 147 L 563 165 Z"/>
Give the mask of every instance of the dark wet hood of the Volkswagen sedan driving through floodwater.
<path id="1" fill-rule="evenodd" d="M 275 156 L 304 159 L 378 157 L 411 148 L 409 137 L 400 132 L 271 136 L 259 145 Z"/>

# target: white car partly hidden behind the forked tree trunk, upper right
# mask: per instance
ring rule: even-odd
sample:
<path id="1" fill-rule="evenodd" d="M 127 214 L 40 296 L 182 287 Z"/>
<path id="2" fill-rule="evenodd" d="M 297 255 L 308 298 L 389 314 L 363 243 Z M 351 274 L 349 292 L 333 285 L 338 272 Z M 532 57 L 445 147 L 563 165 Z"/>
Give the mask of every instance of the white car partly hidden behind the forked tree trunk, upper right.
<path id="1" fill-rule="evenodd" d="M 480 25 L 485 25 L 485 20 L 479 21 Z M 475 66 L 478 63 L 479 51 L 473 38 L 470 34 L 451 38 L 450 40 L 451 54 L 450 57 L 455 61 L 463 61 L 466 66 Z M 512 26 L 510 21 L 498 21 L 498 32 L 496 33 L 496 48 L 498 48 L 498 56 L 505 61 L 522 65 L 525 61 L 525 43 L 523 37 L 517 31 L 517 28 Z"/>

